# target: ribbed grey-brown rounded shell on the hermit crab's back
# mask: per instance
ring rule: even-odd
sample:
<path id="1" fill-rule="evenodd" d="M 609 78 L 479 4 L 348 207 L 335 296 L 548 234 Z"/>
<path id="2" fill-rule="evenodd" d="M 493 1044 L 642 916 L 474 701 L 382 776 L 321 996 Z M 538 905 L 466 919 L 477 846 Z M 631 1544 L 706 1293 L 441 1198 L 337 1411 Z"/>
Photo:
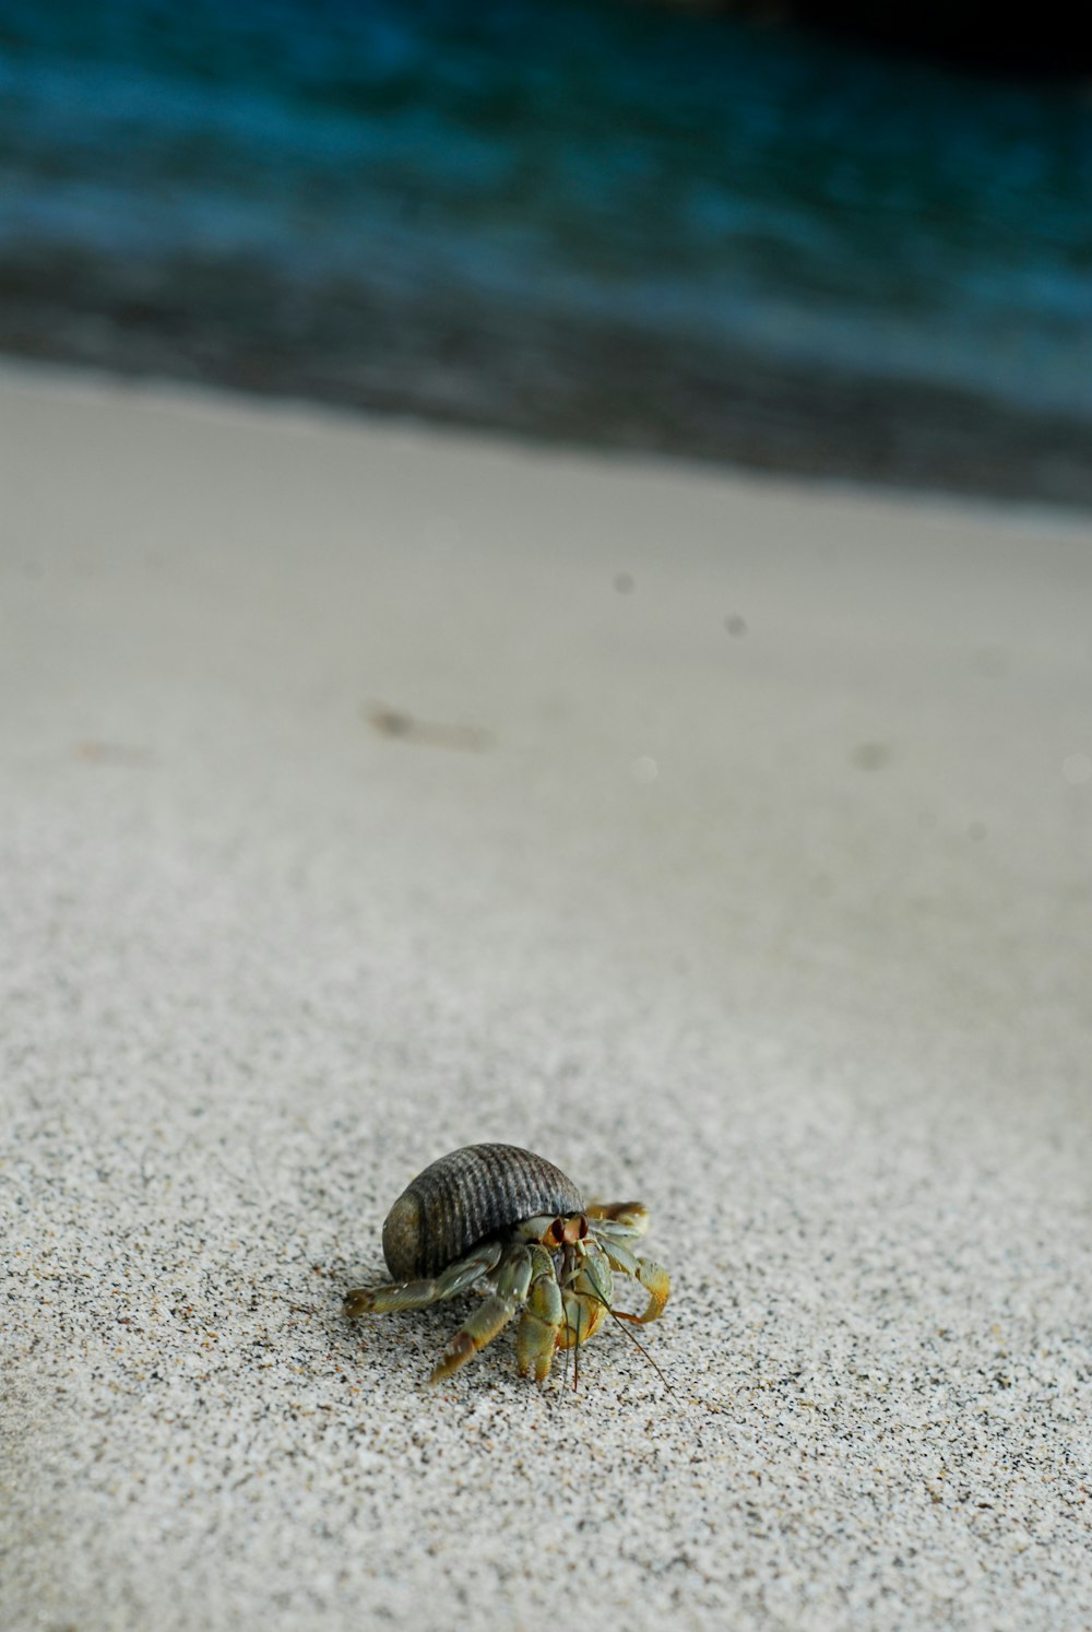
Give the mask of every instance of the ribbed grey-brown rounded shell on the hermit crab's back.
<path id="1" fill-rule="evenodd" d="M 384 1258 L 395 1281 L 426 1279 L 511 1224 L 583 1209 L 573 1180 L 544 1157 L 514 1144 L 468 1144 L 398 1196 L 384 1224 Z"/>

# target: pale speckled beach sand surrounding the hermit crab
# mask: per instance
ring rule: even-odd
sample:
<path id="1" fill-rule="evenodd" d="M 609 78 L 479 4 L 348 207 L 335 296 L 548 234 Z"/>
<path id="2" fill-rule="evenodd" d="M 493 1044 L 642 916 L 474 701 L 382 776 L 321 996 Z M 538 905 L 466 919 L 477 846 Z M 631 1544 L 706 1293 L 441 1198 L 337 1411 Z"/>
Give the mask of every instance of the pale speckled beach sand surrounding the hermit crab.
<path id="1" fill-rule="evenodd" d="M 0 459 L 0 1624 L 1092 1624 L 1092 527 L 31 372 Z M 341 1319 L 498 1138 L 681 1400 Z"/>

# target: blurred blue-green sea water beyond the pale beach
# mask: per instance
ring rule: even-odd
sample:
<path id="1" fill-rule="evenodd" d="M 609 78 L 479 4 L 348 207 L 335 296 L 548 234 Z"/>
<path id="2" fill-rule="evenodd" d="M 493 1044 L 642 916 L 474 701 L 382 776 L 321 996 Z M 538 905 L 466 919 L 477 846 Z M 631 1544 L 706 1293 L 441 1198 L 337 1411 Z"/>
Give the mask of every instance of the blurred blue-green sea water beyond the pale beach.
<path id="1" fill-rule="evenodd" d="M 0 0 L 0 297 L 10 351 L 1081 498 L 1092 100 L 609 0 Z"/>

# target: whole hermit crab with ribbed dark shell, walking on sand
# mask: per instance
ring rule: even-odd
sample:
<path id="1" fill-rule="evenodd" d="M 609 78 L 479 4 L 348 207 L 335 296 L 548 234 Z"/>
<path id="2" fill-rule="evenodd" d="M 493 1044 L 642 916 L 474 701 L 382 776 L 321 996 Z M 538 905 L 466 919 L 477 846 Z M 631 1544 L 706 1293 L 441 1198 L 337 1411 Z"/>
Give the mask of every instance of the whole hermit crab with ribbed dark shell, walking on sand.
<path id="1" fill-rule="evenodd" d="M 638 1258 L 648 1229 L 640 1201 L 588 1206 L 571 1178 L 514 1144 L 472 1144 L 413 1180 L 384 1224 L 392 1284 L 348 1293 L 348 1315 L 424 1309 L 480 1286 L 485 1299 L 454 1335 L 431 1382 L 451 1377 L 519 1314 L 521 1376 L 544 1382 L 555 1350 L 586 1343 L 607 1314 L 656 1320 L 668 1271 Z M 612 1307 L 612 1271 L 648 1293 L 640 1315 Z"/>

